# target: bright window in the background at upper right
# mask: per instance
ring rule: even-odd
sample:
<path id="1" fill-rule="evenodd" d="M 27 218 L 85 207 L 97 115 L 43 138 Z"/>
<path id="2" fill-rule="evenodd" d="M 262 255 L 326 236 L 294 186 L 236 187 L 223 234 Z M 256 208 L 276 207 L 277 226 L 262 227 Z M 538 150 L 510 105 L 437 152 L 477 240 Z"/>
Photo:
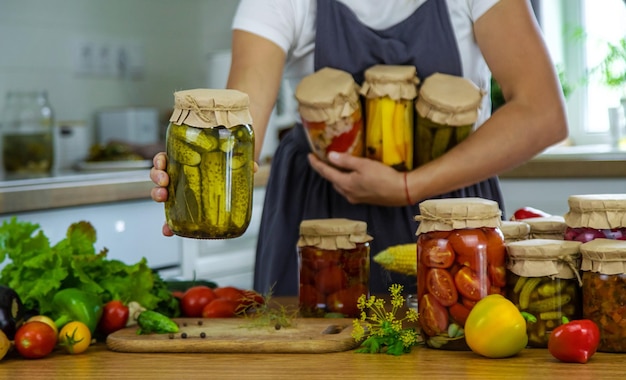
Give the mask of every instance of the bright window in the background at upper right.
<path id="1" fill-rule="evenodd" d="M 609 108 L 626 107 L 620 104 L 626 99 L 626 82 L 621 88 L 604 84 L 599 67 L 609 44 L 619 46 L 626 38 L 626 0 L 545 0 L 535 5 L 563 83 L 572 88 L 567 97 L 570 139 L 575 145 L 610 143 Z M 624 73 L 626 56 L 612 67 Z"/>

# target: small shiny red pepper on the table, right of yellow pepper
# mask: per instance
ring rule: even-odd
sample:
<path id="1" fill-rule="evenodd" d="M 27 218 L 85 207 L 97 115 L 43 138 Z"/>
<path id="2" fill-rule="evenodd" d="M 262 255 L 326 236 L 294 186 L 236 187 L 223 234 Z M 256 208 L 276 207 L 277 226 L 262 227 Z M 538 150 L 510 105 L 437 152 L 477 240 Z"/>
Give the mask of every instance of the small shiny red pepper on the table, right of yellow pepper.
<path id="1" fill-rule="evenodd" d="M 548 351 L 566 363 L 587 363 L 600 344 L 600 329 L 589 319 L 564 320 L 548 338 Z"/>

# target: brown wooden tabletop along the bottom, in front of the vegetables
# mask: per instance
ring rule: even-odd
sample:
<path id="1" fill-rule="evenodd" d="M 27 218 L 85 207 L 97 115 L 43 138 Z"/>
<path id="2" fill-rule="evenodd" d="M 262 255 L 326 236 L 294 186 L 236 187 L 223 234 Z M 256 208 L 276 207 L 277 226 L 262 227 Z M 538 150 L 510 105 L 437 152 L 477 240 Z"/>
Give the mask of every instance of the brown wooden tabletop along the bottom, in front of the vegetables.
<path id="1" fill-rule="evenodd" d="M 597 353 L 586 364 L 561 363 L 546 349 L 507 359 L 415 347 L 410 354 L 127 354 L 91 346 L 81 355 L 54 352 L 0 362 L 0 379 L 613 379 L 625 356 Z"/>

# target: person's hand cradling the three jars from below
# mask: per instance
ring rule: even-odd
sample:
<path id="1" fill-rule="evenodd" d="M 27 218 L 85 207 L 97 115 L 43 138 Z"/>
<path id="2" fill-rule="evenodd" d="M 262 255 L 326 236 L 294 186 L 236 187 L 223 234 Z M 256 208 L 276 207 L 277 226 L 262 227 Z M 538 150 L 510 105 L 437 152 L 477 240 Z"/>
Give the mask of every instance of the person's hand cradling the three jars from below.
<path id="1" fill-rule="evenodd" d="M 309 162 L 322 177 L 332 182 L 337 192 L 352 204 L 405 206 L 404 173 L 375 160 L 347 153 L 330 152 L 332 165 L 309 154 Z"/>

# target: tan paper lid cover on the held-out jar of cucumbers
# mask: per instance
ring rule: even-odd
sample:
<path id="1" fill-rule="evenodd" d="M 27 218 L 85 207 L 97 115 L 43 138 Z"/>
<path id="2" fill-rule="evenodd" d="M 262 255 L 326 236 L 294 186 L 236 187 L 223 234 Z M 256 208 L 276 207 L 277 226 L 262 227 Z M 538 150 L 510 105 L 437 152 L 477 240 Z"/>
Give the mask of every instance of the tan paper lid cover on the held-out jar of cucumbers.
<path id="1" fill-rule="evenodd" d="M 174 93 L 170 122 L 196 128 L 252 125 L 248 94 L 232 89 L 204 89 Z"/>

